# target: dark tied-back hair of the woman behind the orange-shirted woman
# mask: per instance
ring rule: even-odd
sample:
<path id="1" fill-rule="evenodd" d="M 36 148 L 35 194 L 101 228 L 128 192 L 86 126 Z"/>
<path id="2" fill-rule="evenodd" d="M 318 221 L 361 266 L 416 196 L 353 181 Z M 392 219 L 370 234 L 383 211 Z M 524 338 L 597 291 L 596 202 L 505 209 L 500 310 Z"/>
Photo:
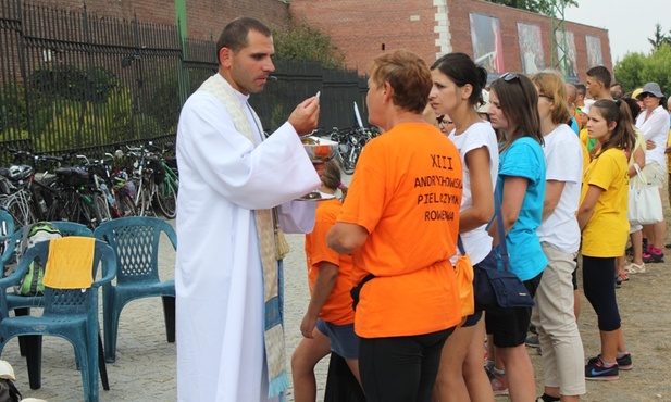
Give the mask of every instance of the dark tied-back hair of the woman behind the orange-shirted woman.
<path id="1" fill-rule="evenodd" d="M 469 103 L 477 108 L 484 104 L 482 90 L 487 84 L 487 71 L 482 65 L 476 65 L 465 53 L 448 53 L 436 60 L 431 70 L 436 70 L 449 77 L 458 87 L 469 84 L 473 91 L 469 97 Z"/>

